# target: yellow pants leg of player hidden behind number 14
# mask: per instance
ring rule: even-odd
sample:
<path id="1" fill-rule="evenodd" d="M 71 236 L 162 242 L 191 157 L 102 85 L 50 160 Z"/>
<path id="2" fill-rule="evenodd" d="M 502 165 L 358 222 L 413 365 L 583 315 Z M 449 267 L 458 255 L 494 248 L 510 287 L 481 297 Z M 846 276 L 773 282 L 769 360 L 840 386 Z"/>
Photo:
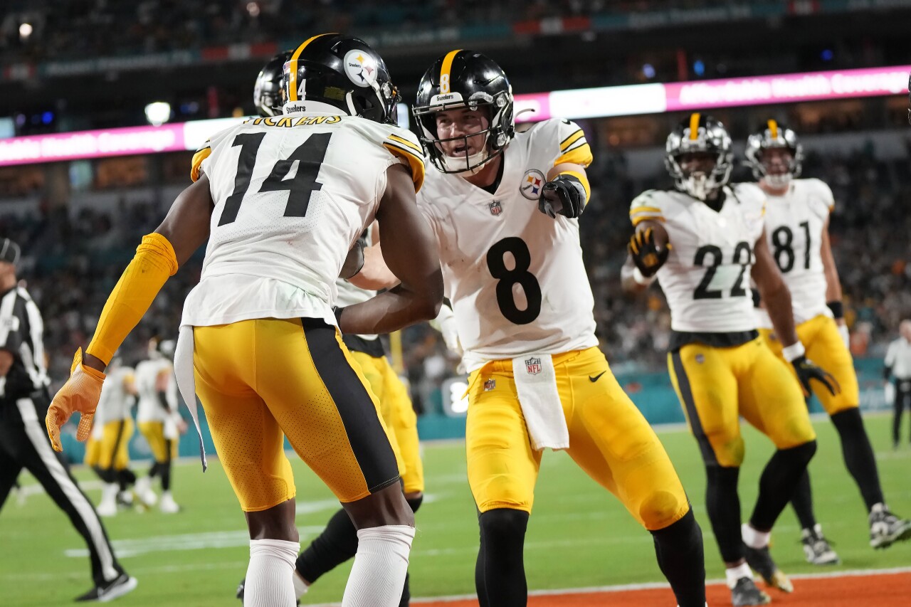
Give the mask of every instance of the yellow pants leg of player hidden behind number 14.
<path id="1" fill-rule="evenodd" d="M 380 402 L 380 415 L 391 431 L 392 448 L 400 462 L 405 493 L 424 491 L 424 463 L 417 437 L 417 415 L 408 389 L 385 356 L 351 352 Z"/>

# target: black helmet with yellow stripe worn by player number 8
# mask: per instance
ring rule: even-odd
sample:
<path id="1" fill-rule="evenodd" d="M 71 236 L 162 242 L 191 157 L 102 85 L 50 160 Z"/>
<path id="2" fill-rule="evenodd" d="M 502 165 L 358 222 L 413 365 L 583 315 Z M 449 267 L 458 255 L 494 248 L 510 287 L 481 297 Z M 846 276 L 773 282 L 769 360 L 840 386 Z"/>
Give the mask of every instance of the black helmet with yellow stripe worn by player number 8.
<path id="1" fill-rule="evenodd" d="M 440 139 L 436 133 L 436 112 L 456 108 L 487 108 L 490 113 L 490 126 L 481 131 L 486 134 L 485 149 L 464 159 L 446 156 L 440 144 L 480 133 L 449 139 Z M 507 75 L 493 60 L 471 50 L 450 51 L 436 59 L 421 78 L 412 113 L 421 127 L 418 138 L 434 166 L 444 173 L 476 172 L 503 153 L 516 135 L 512 87 Z"/>

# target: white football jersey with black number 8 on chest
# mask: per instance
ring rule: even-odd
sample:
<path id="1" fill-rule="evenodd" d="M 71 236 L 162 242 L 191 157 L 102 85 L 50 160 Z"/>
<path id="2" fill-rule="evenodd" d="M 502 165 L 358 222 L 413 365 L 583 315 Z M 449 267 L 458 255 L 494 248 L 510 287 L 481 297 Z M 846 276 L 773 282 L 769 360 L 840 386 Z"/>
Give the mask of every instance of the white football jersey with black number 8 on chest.
<path id="1" fill-rule="evenodd" d="M 548 170 L 591 162 L 585 134 L 567 120 L 545 120 L 517 133 L 503 162 L 493 194 L 431 170 L 417 199 L 439 244 L 468 370 L 598 345 L 578 220 L 537 210 Z"/>

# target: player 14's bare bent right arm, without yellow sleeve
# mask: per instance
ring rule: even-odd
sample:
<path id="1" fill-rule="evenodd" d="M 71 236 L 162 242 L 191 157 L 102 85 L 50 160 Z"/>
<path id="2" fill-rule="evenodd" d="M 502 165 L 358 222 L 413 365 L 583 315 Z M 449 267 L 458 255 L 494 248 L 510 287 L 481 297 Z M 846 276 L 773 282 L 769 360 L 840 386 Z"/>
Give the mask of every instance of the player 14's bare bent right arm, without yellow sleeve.
<path id="1" fill-rule="evenodd" d="M 342 333 L 397 331 L 435 318 L 443 303 L 439 253 L 430 226 L 417 209 L 414 180 L 403 165 L 395 164 L 386 170 L 386 181 L 376 219 L 383 226 L 383 260 L 399 284 L 343 308 Z"/>

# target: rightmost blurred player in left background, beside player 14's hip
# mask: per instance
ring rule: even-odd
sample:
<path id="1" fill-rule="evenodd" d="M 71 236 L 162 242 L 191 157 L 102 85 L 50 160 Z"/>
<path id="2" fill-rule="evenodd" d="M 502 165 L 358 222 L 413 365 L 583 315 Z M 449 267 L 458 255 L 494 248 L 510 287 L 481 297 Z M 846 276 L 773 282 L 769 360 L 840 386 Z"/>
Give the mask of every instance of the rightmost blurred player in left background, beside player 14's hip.
<path id="1" fill-rule="evenodd" d="M 159 498 L 151 483 L 153 478 L 159 478 L 159 509 L 167 514 L 180 510 L 171 494 L 171 466 L 177 458 L 179 435 L 187 430 L 178 410 L 177 382 L 171 363 L 173 355 L 172 340 L 152 337 L 148 341 L 148 360 L 136 365 L 136 421 L 155 459 L 148 475 L 136 481 L 136 492 L 145 504 L 153 506 Z"/>

